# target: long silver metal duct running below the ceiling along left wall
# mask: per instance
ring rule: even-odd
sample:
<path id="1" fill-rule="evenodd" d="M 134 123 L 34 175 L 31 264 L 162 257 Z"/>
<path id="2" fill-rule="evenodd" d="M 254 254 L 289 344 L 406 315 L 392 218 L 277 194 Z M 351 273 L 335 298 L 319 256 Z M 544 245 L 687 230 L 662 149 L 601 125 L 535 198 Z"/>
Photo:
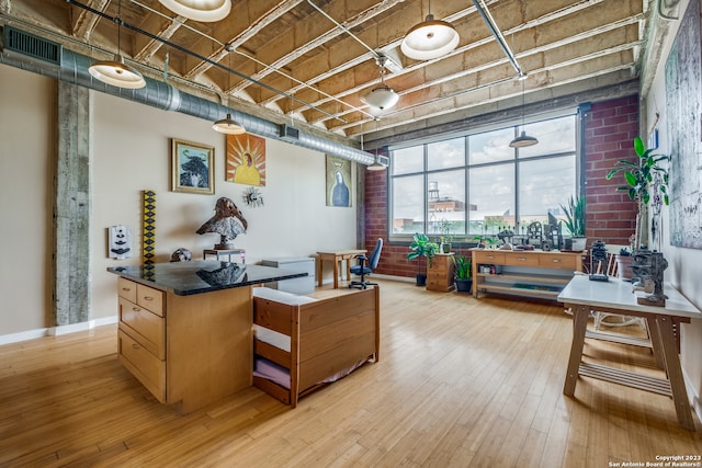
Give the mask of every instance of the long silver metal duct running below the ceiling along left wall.
<path id="1" fill-rule="evenodd" d="M 10 26 L 5 25 L 4 27 L 7 28 Z M 120 89 L 111 87 L 95 80 L 88 72 L 88 68 L 92 61 L 92 58 L 73 53 L 65 47 L 60 50 L 60 65 L 58 66 L 36 60 L 36 58 L 18 50 L 7 53 L 7 50 L 3 49 L 2 54 L 0 54 L 0 64 L 5 64 L 57 80 L 90 88 L 92 90 L 127 99 L 129 101 L 147 104 L 163 111 L 180 112 L 182 114 L 202 118 L 208 123 L 217 121 L 222 115 L 231 114 L 233 118 L 240 123 L 248 133 L 261 137 L 278 139 L 303 148 L 320 151 L 325 155 L 359 162 L 361 164 L 367 165 L 375 161 L 374 156 L 367 151 L 341 145 L 337 141 L 328 140 L 303 130 L 299 132 L 298 139 L 283 138 L 281 137 L 280 124 L 181 92 L 167 82 L 154 80 L 148 77 L 145 77 L 146 87 L 141 89 Z M 381 162 L 387 164 L 389 160 L 386 157 L 383 158 L 385 160 Z"/>

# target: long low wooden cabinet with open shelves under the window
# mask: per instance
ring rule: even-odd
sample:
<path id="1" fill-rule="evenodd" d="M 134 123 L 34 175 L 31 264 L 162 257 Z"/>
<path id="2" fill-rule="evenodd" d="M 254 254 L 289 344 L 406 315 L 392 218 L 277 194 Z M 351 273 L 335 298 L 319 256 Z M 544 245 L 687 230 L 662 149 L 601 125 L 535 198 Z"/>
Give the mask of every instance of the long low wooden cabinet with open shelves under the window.
<path id="1" fill-rule="evenodd" d="M 585 252 L 473 249 L 473 295 L 495 292 L 555 298 L 582 271 Z"/>

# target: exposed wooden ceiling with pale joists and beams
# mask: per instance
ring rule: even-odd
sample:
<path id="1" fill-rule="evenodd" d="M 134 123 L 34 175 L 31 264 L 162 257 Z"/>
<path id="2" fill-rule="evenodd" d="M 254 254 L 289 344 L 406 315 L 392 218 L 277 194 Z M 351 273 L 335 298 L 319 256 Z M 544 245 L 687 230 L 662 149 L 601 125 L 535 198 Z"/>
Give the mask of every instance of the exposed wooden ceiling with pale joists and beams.
<path id="1" fill-rule="evenodd" d="M 522 82 L 469 0 L 432 3 L 461 41 L 427 61 L 399 49 L 429 13 L 427 0 L 234 0 L 216 23 L 176 16 L 157 0 L 78 1 L 88 9 L 73 0 L 0 0 L 0 18 L 95 59 L 120 49 L 145 76 L 234 109 L 344 137 L 519 107 L 522 84 L 529 101 L 631 81 L 648 22 L 672 8 L 670 0 L 480 0 L 528 73 Z M 385 83 L 400 95 L 380 119 L 360 99 L 380 81 L 377 53 L 389 57 Z"/>

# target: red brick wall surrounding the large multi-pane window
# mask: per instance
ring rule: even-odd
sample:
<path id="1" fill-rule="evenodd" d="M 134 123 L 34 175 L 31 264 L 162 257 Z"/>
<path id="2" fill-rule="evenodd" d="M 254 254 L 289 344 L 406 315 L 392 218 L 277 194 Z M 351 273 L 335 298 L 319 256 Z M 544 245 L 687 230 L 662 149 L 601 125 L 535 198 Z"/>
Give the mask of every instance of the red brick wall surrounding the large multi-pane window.
<path id="1" fill-rule="evenodd" d="M 621 179 L 604 179 L 618 160 L 635 160 L 633 139 L 638 135 L 638 96 L 621 98 L 592 104 L 586 115 L 585 180 L 586 230 L 588 244 L 601 239 L 607 243 L 629 244 L 634 233 L 636 205 L 625 192 L 618 192 Z M 376 272 L 412 277 L 417 261 L 408 261 L 407 244 L 390 246 L 387 241 L 387 173 L 365 171 L 365 246 L 375 246 L 383 238 L 383 253 Z M 453 249 L 468 254 L 467 249 Z M 422 259 L 422 271 L 426 265 Z"/>

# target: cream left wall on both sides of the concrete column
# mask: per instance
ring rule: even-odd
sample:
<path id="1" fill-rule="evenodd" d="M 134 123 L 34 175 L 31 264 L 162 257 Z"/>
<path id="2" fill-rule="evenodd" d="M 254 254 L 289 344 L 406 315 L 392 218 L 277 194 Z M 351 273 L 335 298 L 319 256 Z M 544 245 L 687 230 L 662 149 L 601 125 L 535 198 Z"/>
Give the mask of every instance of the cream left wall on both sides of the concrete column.
<path id="1" fill-rule="evenodd" d="M 0 65 L 0 336 L 50 327 L 50 158 L 54 156 L 56 85 L 48 78 Z M 158 262 L 181 247 L 202 259 L 219 238 L 195 230 L 213 214 L 220 196 L 231 198 L 249 222 L 236 246 L 247 263 L 265 258 L 307 256 L 324 249 L 350 249 L 356 242 L 355 207 L 327 207 L 325 156 L 283 141 L 267 140 L 264 206 L 249 208 L 248 185 L 225 182 L 226 137 L 203 119 L 160 111 L 92 92 L 92 253 L 91 319 L 116 315 L 116 276 L 109 266 L 140 264 L 141 192 L 157 193 Z M 170 138 L 215 147 L 215 195 L 170 191 Z M 355 171 L 352 171 L 355 172 Z M 127 225 L 135 255 L 107 256 L 107 228 Z M 326 265 L 327 266 L 327 265 Z M 325 276 L 331 279 L 330 269 Z"/>

